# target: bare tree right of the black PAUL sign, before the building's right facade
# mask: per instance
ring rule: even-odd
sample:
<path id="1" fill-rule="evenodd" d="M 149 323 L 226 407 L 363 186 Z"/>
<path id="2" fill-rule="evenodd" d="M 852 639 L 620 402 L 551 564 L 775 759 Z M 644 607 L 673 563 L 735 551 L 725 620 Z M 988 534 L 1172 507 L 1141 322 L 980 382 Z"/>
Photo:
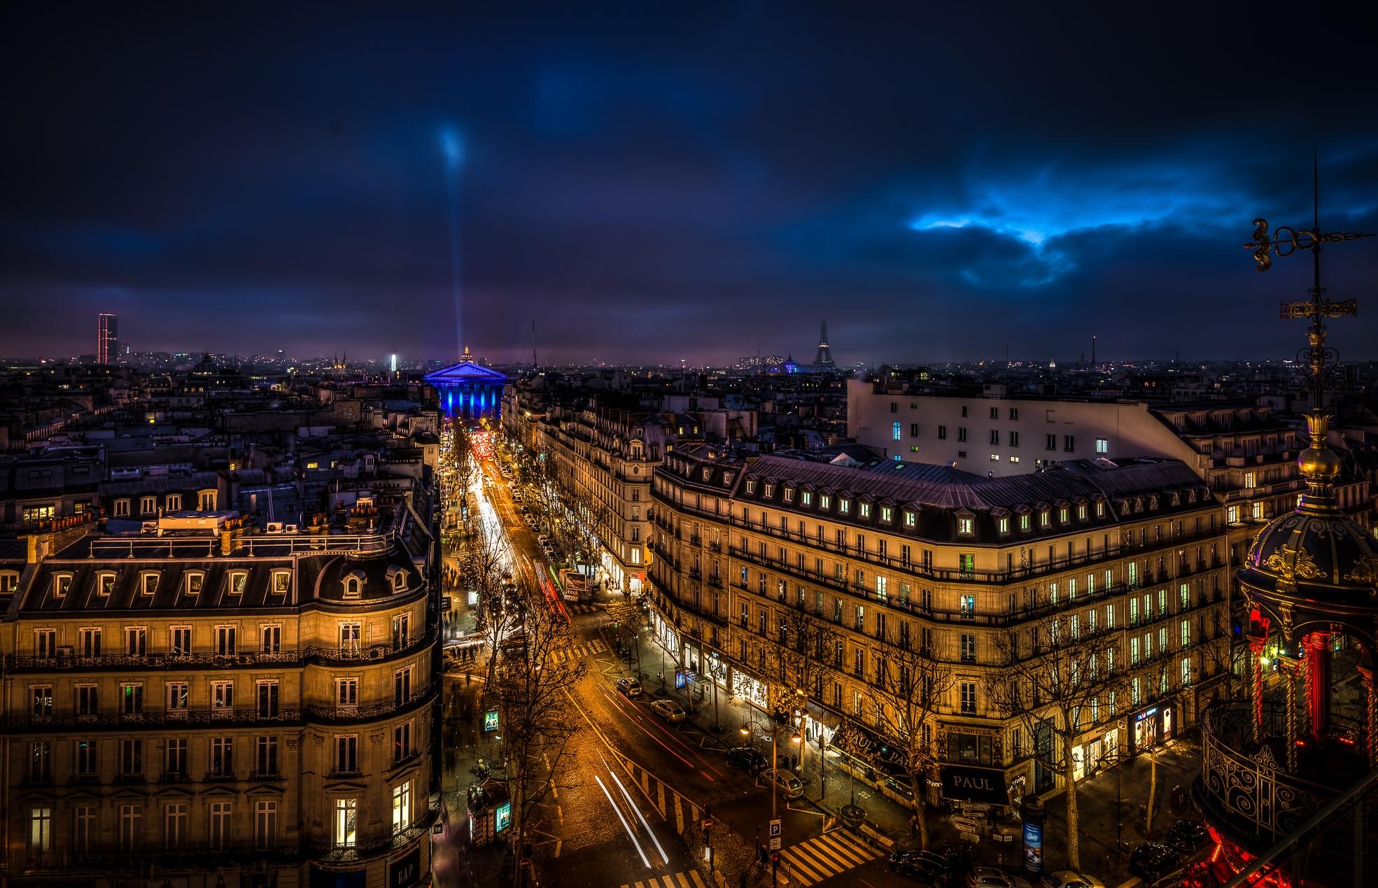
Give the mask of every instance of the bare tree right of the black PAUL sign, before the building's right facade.
<path id="1" fill-rule="evenodd" d="M 1076 809 L 1078 734 L 1091 725 L 1100 706 L 1111 714 L 1112 695 L 1124 695 L 1126 678 L 1118 636 L 1093 633 L 1078 614 L 1061 611 L 996 636 L 1002 669 L 987 673 L 988 699 L 1006 716 L 1018 718 L 1025 736 L 1050 732 L 1051 750 L 1034 743 L 1035 763 L 1062 775 L 1067 786 L 1067 860 L 1082 866 Z"/>

